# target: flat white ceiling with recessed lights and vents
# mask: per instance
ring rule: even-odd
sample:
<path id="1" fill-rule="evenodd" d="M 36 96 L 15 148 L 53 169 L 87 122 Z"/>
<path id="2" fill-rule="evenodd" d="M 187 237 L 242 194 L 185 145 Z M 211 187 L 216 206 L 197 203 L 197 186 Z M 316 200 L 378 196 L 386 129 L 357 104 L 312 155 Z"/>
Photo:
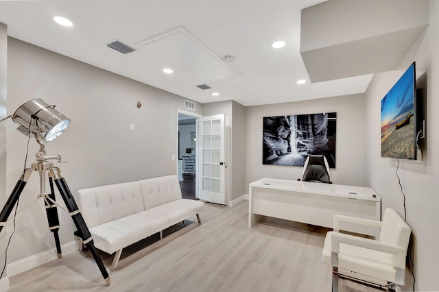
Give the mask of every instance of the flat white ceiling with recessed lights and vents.
<path id="1" fill-rule="evenodd" d="M 309 81 L 300 56 L 300 13 L 321 2 L 0 1 L 0 23 L 19 40 L 201 103 L 233 99 L 254 106 L 364 93 L 372 74 Z M 73 27 L 61 27 L 54 16 L 70 19 Z M 137 51 L 124 55 L 110 49 L 106 44 L 113 40 Z M 273 49 L 275 40 L 287 45 Z M 223 62 L 227 55 L 235 61 Z M 163 73 L 165 67 L 174 73 Z M 307 83 L 296 84 L 300 79 Z"/>

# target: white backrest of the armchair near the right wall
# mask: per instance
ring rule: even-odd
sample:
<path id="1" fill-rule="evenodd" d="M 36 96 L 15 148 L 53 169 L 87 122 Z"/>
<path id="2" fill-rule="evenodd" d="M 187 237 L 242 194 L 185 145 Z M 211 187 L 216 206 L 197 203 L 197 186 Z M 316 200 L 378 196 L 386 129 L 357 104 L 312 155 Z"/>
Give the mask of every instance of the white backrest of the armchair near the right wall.
<path id="1" fill-rule="evenodd" d="M 390 208 L 384 210 L 379 241 L 407 249 L 411 233 L 410 227 L 395 210 Z"/>

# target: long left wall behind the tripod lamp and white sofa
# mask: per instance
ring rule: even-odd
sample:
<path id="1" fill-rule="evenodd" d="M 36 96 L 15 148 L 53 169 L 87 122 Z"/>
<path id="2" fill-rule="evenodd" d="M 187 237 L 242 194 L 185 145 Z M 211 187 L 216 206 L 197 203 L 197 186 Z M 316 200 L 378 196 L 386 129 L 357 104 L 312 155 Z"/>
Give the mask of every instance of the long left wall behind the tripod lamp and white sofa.
<path id="1" fill-rule="evenodd" d="M 48 155 L 60 151 L 68 161 L 56 165 L 71 191 L 176 174 L 177 160 L 172 161 L 171 156 L 177 156 L 176 116 L 177 109 L 184 110 L 182 97 L 8 38 L 8 114 L 35 97 L 55 104 L 71 119 L 67 131 L 46 146 Z M 202 105 L 196 108 L 200 114 Z M 130 123 L 134 123 L 134 132 Z M 23 170 L 27 138 L 14 128 L 7 135 L 10 193 Z M 37 143 L 31 140 L 27 166 L 35 161 L 37 150 Z M 33 173 L 19 208 L 33 202 L 38 193 L 38 173 Z M 66 212 L 58 212 L 61 243 L 69 243 L 74 239 L 73 223 Z M 20 213 L 16 226 L 8 263 L 55 247 L 42 201 Z M 7 229 L 12 232 L 12 223 Z"/>

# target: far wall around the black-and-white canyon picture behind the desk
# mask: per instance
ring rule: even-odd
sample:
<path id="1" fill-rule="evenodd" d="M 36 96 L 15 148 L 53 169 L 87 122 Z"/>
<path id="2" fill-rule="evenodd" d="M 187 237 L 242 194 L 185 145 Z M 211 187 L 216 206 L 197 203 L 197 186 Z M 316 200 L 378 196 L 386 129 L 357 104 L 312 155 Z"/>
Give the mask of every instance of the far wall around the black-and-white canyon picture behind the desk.
<path id="1" fill-rule="evenodd" d="M 246 108 L 246 192 L 248 184 L 261 178 L 296 180 L 302 178 L 302 167 L 262 164 L 263 117 L 285 114 L 337 112 L 335 169 L 330 170 L 335 184 L 364 186 L 364 133 L 366 129 L 364 95 L 346 95 L 309 101 L 296 101 Z"/>

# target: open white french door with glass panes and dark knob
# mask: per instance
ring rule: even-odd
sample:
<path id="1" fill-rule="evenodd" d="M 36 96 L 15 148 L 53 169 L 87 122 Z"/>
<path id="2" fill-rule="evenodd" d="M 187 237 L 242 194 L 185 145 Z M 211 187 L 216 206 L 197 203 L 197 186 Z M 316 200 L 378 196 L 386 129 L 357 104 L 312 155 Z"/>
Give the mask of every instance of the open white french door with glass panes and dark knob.
<path id="1" fill-rule="evenodd" d="M 202 117 L 199 133 L 201 169 L 198 197 L 206 202 L 226 205 L 224 114 Z"/>

